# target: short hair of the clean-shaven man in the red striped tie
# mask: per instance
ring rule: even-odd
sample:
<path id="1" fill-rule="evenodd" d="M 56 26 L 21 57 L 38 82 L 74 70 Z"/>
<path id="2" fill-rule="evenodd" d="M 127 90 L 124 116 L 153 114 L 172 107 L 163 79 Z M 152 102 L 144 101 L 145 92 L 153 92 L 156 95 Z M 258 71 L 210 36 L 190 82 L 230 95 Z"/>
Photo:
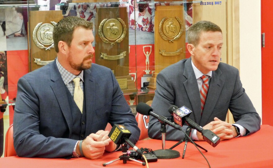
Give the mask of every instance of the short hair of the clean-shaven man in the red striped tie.
<path id="1" fill-rule="evenodd" d="M 199 21 L 193 24 L 188 30 L 188 44 L 193 44 L 196 46 L 199 43 L 201 32 L 208 31 L 222 33 L 221 28 L 216 24 L 205 20 Z"/>

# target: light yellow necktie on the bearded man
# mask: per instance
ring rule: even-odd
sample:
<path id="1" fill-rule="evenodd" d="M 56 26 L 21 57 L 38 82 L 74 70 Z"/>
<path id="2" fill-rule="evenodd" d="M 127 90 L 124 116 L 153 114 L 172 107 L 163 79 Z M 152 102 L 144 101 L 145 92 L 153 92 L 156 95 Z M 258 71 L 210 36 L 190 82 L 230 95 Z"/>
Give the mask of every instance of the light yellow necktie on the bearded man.
<path id="1" fill-rule="evenodd" d="M 83 113 L 83 90 L 80 86 L 80 78 L 76 77 L 73 79 L 75 84 L 74 89 L 74 101 L 77 104 L 78 108 L 80 109 L 81 113 Z"/>

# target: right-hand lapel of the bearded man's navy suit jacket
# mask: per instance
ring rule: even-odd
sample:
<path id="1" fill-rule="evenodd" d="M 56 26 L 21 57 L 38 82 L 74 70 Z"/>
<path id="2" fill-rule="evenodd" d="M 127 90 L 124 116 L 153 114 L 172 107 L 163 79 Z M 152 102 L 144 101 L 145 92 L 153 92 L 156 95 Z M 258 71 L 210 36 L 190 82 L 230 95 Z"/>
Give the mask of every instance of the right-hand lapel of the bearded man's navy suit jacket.
<path id="1" fill-rule="evenodd" d="M 92 69 L 92 68 L 91 68 Z M 86 112 L 86 128 L 94 128 L 92 126 L 93 119 L 96 117 L 95 113 L 95 91 L 96 91 L 96 85 L 95 85 L 95 78 L 92 77 L 92 75 L 95 75 L 95 73 L 91 73 L 90 69 L 84 70 L 83 73 L 83 80 L 84 80 L 84 95 L 85 95 L 85 112 Z M 92 130 L 86 130 L 86 134 L 89 135 L 89 133 L 92 132 Z M 86 136 L 88 136 L 86 135 Z"/>

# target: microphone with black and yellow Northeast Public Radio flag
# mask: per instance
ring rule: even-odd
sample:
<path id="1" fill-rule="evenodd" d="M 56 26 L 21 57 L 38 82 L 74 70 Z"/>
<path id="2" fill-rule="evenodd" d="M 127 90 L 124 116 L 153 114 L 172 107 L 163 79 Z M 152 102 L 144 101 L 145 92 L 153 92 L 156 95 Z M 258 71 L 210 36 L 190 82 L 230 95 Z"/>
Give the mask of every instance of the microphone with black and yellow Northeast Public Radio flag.
<path id="1" fill-rule="evenodd" d="M 123 125 L 115 124 L 108 136 L 115 144 L 123 144 L 126 142 L 130 147 L 132 147 L 138 154 L 143 155 L 142 151 L 137 148 L 137 146 L 132 143 L 128 138 L 131 136 L 131 132 Z"/>

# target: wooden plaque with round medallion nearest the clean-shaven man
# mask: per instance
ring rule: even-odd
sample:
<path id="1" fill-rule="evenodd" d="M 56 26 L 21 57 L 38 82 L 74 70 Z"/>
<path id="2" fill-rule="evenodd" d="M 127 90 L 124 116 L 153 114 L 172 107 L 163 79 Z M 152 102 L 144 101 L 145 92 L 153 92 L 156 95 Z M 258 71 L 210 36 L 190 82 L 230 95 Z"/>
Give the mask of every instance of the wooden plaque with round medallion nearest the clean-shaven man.
<path id="1" fill-rule="evenodd" d="M 183 6 L 156 6 L 154 21 L 155 73 L 185 58 L 186 28 Z"/>

